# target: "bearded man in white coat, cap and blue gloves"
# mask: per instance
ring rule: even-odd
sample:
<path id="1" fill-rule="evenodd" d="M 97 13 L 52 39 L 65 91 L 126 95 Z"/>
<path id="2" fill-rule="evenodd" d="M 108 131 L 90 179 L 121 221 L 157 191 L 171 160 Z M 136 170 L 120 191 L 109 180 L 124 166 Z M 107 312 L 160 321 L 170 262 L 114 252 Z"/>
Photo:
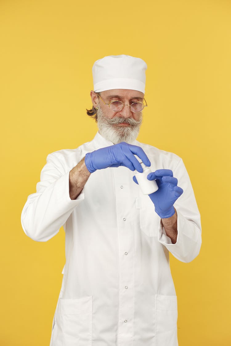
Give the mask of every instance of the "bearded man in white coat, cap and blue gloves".
<path id="1" fill-rule="evenodd" d="M 38 242 L 65 230 L 50 346 L 178 345 L 169 252 L 192 261 L 201 221 L 182 158 L 136 140 L 146 68 L 128 55 L 94 63 L 87 113 L 99 130 L 76 149 L 48 154 L 21 213 L 24 232 Z M 158 185 L 148 195 L 135 177 L 141 162 Z"/>

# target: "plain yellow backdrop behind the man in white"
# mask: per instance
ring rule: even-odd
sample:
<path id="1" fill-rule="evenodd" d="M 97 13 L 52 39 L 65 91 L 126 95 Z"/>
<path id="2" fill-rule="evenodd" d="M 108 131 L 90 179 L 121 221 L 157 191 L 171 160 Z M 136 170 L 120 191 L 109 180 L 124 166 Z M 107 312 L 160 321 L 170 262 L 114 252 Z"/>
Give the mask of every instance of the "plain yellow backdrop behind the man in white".
<path id="1" fill-rule="evenodd" d="M 0 345 L 49 345 L 65 264 L 63 228 L 35 242 L 21 211 L 46 156 L 91 140 L 92 65 L 141 57 L 137 139 L 183 158 L 202 221 L 201 252 L 170 254 L 179 346 L 230 345 L 231 2 L 0 1 Z"/>

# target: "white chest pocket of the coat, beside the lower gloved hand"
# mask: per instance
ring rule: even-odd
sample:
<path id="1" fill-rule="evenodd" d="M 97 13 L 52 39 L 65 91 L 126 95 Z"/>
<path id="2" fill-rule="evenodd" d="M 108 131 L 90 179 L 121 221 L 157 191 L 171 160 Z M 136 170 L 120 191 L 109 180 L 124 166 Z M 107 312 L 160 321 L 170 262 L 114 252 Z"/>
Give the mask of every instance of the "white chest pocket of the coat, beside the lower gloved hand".
<path id="1" fill-rule="evenodd" d="M 136 199 L 136 208 L 140 209 L 141 230 L 149 237 L 157 237 L 160 217 L 157 215 L 149 195 L 140 192 L 140 197 Z"/>

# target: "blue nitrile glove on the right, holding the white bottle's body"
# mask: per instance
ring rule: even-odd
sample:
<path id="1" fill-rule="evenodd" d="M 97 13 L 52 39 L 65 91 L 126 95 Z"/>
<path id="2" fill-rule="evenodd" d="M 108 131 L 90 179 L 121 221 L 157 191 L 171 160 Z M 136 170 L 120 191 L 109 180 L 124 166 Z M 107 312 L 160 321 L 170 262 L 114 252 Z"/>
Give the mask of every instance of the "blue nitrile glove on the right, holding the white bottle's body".
<path id="1" fill-rule="evenodd" d="M 177 198 L 183 193 L 183 189 L 177 186 L 178 180 L 174 178 L 171 170 L 156 170 L 155 172 L 147 175 L 148 180 L 156 179 L 158 190 L 150 193 L 152 203 L 155 206 L 156 213 L 165 219 L 174 215 L 175 210 L 173 204 Z M 138 184 L 136 177 L 133 176 L 133 180 Z"/>

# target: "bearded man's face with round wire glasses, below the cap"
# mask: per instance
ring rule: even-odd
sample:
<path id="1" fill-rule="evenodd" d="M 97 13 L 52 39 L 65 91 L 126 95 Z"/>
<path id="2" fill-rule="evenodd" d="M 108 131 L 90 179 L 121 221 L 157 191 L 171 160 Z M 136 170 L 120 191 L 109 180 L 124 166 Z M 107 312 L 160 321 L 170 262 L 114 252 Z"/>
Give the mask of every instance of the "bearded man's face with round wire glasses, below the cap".
<path id="1" fill-rule="evenodd" d="M 132 143 L 138 136 L 140 126 L 142 124 L 142 111 L 134 113 L 129 106 L 124 106 L 118 112 L 112 111 L 107 104 L 112 100 L 122 101 L 124 104 L 132 104 L 132 102 L 143 102 L 144 94 L 140 91 L 130 89 L 113 89 L 102 91 L 99 98 L 94 97 L 91 92 L 92 103 L 96 102 L 97 125 L 101 136 L 110 140 L 114 144 L 120 142 Z M 95 104 L 93 103 L 94 107 Z"/>

